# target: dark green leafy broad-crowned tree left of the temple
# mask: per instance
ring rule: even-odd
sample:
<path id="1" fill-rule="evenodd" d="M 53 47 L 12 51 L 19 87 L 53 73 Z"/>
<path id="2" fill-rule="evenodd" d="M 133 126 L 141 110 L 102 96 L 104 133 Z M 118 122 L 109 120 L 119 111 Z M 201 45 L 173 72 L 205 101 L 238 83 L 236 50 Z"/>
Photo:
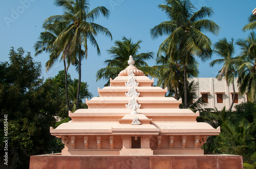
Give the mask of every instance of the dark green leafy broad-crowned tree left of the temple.
<path id="1" fill-rule="evenodd" d="M 28 168 L 30 155 L 50 152 L 56 138 L 49 127 L 62 105 L 53 81 L 40 78 L 40 63 L 24 54 L 23 48 L 12 47 L 9 62 L 0 64 L 0 112 L 1 117 L 8 115 L 8 149 L 18 154 L 17 168 Z"/>

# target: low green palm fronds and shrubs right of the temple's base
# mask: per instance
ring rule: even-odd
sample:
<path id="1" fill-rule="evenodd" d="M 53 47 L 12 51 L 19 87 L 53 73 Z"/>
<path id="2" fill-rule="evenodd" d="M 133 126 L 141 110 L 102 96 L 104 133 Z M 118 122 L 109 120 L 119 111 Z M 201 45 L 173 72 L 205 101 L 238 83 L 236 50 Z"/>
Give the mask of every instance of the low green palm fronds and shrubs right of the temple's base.
<path id="1" fill-rule="evenodd" d="M 205 120 L 215 128 L 221 127 L 220 135 L 208 138 L 203 146 L 205 152 L 242 155 L 244 161 L 250 164 L 255 162 L 255 106 L 250 102 L 241 103 L 235 106 L 236 111 L 232 113 L 226 111 L 224 107 L 220 112 L 216 110 L 214 116 L 201 118 L 202 121 Z"/>

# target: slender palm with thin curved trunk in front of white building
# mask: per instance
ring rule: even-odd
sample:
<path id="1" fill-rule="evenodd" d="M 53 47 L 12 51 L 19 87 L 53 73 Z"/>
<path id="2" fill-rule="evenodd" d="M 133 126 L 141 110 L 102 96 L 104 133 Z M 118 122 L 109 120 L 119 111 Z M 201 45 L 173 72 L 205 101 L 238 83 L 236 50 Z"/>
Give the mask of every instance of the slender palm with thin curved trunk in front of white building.
<path id="1" fill-rule="evenodd" d="M 233 64 L 233 60 L 235 58 L 232 58 L 234 54 L 234 46 L 233 46 L 233 38 L 231 41 L 227 41 L 226 38 L 220 39 L 218 42 L 214 44 L 214 52 L 218 54 L 223 59 L 217 59 L 212 61 L 209 65 L 210 67 L 213 67 L 216 64 L 223 64 L 223 67 L 219 71 L 219 74 L 216 76 L 218 80 L 221 80 L 222 77 L 225 77 L 227 84 L 229 85 L 232 83 L 233 88 L 233 98 L 230 105 L 230 108 L 228 111 L 231 111 L 232 106 L 234 104 L 234 100 L 236 99 L 236 91 L 234 89 L 234 76 L 236 76 L 236 65 Z"/>

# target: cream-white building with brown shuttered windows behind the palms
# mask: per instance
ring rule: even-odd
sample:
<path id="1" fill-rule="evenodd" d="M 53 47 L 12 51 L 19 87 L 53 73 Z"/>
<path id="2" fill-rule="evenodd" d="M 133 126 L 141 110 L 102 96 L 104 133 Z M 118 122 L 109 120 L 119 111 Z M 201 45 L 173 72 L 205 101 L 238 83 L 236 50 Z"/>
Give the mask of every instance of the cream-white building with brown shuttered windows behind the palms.
<path id="1" fill-rule="evenodd" d="M 199 82 L 196 99 L 193 100 L 193 102 L 196 101 L 199 97 L 207 95 L 208 99 L 206 99 L 205 102 L 208 102 L 208 105 L 205 108 L 216 107 L 220 111 L 225 106 L 226 110 L 229 109 L 233 98 L 232 84 L 228 86 L 225 79 L 219 81 L 217 78 L 214 77 L 194 77 L 193 79 L 195 80 L 195 82 Z M 247 101 L 246 94 L 239 94 L 237 79 L 235 79 L 234 86 L 236 92 L 236 99 L 234 101 L 232 110 L 235 110 L 235 105 Z"/>

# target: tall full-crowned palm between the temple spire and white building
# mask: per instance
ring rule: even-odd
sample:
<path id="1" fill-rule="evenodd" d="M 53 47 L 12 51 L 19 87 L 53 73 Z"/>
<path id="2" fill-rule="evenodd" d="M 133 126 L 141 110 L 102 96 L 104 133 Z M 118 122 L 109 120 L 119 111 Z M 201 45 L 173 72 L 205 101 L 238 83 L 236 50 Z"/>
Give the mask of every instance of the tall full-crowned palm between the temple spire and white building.
<path id="1" fill-rule="evenodd" d="M 211 41 L 202 32 L 210 32 L 217 35 L 220 27 L 211 20 L 204 19 L 214 12 L 211 8 L 202 7 L 195 12 L 195 7 L 189 0 L 165 0 L 166 5 L 158 7 L 164 11 L 169 21 L 164 21 L 151 29 L 152 38 L 157 38 L 164 34 L 168 37 L 160 45 L 158 55 L 167 47 L 167 54 L 172 55 L 178 46 L 179 57 L 182 58 L 184 67 L 184 108 L 187 108 L 187 66 L 197 55 L 202 61 L 211 57 Z"/>

